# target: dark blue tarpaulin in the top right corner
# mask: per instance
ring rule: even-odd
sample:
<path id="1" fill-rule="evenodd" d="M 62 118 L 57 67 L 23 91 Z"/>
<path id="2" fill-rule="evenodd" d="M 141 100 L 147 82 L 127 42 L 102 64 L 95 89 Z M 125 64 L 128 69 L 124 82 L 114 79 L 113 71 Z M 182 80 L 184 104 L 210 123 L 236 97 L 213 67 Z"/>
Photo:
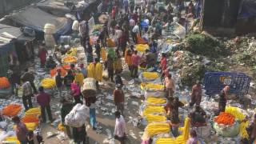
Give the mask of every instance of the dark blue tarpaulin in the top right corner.
<path id="1" fill-rule="evenodd" d="M 255 0 L 242 0 L 238 18 L 250 18 L 256 16 L 256 1 Z"/>

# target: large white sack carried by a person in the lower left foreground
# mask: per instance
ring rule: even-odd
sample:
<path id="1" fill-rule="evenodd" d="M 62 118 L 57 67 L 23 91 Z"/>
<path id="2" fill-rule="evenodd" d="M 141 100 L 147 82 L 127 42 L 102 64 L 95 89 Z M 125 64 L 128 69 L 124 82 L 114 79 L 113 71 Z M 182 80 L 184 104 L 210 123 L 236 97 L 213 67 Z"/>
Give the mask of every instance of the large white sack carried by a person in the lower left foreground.
<path id="1" fill-rule="evenodd" d="M 89 116 L 89 107 L 78 103 L 65 117 L 65 124 L 71 127 L 81 127 Z"/>

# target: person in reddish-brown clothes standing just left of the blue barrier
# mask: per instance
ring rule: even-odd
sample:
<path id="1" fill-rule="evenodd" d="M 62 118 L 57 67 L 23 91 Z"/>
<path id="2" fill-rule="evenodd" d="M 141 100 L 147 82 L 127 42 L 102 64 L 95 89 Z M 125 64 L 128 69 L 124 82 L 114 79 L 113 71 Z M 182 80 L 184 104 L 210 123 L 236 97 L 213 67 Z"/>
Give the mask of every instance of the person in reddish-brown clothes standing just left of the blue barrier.
<path id="1" fill-rule="evenodd" d="M 192 88 L 192 94 L 190 95 L 191 101 L 190 101 L 190 106 L 200 105 L 201 100 L 202 100 L 202 86 L 199 81 L 196 82 L 196 84 Z"/>

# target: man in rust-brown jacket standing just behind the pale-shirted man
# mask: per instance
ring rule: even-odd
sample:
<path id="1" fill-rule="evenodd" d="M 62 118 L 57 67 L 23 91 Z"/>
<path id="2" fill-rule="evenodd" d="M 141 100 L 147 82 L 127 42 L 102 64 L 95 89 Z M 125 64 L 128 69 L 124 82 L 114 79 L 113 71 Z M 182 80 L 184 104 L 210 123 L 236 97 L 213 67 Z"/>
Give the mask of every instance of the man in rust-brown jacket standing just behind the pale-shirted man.
<path id="1" fill-rule="evenodd" d="M 114 94 L 114 104 L 115 106 L 117 106 L 117 110 L 120 111 L 121 114 L 123 115 L 125 94 L 122 91 L 122 86 L 118 84 L 113 94 Z"/>

